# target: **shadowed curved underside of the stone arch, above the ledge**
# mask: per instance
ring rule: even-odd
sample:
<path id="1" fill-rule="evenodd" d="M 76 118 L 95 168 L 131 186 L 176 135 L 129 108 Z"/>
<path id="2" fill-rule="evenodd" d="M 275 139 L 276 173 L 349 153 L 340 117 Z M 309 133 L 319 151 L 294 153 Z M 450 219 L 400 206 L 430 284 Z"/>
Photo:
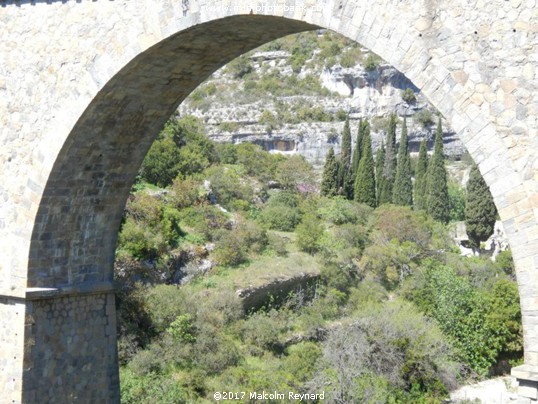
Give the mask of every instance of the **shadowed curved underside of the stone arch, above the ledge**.
<path id="1" fill-rule="evenodd" d="M 32 234 L 28 287 L 110 282 L 123 207 L 147 150 L 191 91 L 235 57 L 316 26 L 235 16 L 158 43 L 116 74 L 65 142 Z"/>

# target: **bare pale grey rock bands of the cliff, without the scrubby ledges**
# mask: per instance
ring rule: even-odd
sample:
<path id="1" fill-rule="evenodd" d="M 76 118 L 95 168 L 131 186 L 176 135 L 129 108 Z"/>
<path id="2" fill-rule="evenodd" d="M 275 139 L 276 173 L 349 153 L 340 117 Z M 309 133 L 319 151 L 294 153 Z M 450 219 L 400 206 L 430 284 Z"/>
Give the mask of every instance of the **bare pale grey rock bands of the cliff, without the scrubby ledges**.
<path id="1" fill-rule="evenodd" d="M 251 56 L 253 69 L 260 77 L 275 72 L 281 75 L 295 74 L 289 66 L 289 56 L 282 51 L 257 52 Z M 420 142 L 424 138 L 433 147 L 437 122 L 434 119 L 435 122 L 424 127 L 419 112 L 429 110 L 432 111 L 431 116 L 435 117 L 436 111 L 420 93 L 416 94 L 415 102 L 407 103 L 402 99 L 404 89 L 418 90 L 393 67 L 381 64 L 372 71 L 366 71 L 360 64 L 350 68 L 340 65 L 330 68 L 309 67 L 301 70 L 300 77 L 305 76 L 318 77 L 321 86 L 331 93 L 247 97 L 244 83 L 221 69 L 204 83 L 206 86 L 215 86 L 218 91 L 206 95 L 201 104 L 189 97 L 180 105 L 179 113 L 200 118 L 205 124 L 208 137 L 214 141 L 234 144 L 249 142 L 271 152 L 300 154 L 318 168 L 323 167 L 331 147 L 337 154 L 340 152 L 343 121 L 280 122 L 268 130 L 268 126 L 260 119 L 263 114 L 270 112 L 278 120 L 279 110 L 291 111 L 293 115 L 294 108 L 305 104 L 323 108 L 333 116 L 338 112 L 347 112 L 352 133 L 356 133 L 360 119 L 369 119 L 372 144 L 377 148 L 386 136 L 386 125 L 383 127 L 376 122 L 386 123 L 388 116 L 395 112 L 400 117 L 407 117 L 411 153 L 418 154 Z M 286 107 L 282 108 L 282 105 Z M 443 129 L 445 153 L 454 157 L 461 156 L 465 152 L 462 142 L 446 121 L 443 122 Z M 401 125 L 397 128 L 397 138 L 400 130 Z"/>

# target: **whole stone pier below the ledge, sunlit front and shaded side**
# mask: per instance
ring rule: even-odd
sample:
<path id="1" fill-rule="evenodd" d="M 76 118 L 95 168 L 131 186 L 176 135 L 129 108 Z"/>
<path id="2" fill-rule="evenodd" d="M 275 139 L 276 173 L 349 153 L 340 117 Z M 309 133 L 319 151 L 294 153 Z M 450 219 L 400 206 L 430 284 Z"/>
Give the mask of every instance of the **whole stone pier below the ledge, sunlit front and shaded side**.
<path id="1" fill-rule="evenodd" d="M 30 288 L 0 301 L 6 402 L 120 402 L 110 286 Z"/>

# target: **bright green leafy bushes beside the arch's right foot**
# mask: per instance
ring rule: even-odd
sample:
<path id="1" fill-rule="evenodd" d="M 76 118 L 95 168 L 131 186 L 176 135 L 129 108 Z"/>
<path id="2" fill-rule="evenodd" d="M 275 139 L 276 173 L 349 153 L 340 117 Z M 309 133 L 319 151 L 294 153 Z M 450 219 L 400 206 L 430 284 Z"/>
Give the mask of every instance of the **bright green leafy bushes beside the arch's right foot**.
<path id="1" fill-rule="evenodd" d="M 476 288 L 450 267 L 432 261 L 413 300 L 435 318 L 460 360 L 487 375 L 501 356 L 522 352 L 521 315 L 516 285 L 497 280 L 491 289 Z M 499 318 L 502 317 L 502 323 Z"/>

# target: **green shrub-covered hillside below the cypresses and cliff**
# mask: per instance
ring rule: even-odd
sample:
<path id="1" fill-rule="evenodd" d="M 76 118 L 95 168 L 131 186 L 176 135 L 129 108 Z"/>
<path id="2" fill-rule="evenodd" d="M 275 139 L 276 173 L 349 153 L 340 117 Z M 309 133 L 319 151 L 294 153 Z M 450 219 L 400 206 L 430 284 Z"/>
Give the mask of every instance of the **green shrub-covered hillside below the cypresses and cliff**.
<path id="1" fill-rule="evenodd" d="M 509 252 L 461 257 L 444 223 L 461 204 L 446 202 L 436 221 L 340 188 L 321 196 L 302 157 L 204 131 L 171 119 L 126 206 L 115 266 L 123 402 L 223 391 L 246 392 L 241 402 L 263 391 L 441 402 L 521 359 Z"/>

